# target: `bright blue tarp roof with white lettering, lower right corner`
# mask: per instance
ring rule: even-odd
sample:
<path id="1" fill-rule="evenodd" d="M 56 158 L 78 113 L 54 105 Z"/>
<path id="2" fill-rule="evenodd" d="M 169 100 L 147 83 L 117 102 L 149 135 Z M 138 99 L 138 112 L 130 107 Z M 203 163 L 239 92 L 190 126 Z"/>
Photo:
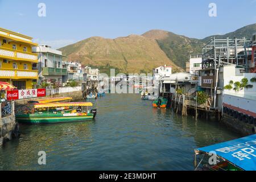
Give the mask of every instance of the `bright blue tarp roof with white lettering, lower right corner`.
<path id="1" fill-rule="evenodd" d="M 256 134 L 228 142 L 197 148 L 199 151 L 212 153 L 228 160 L 246 171 L 256 170 Z"/>

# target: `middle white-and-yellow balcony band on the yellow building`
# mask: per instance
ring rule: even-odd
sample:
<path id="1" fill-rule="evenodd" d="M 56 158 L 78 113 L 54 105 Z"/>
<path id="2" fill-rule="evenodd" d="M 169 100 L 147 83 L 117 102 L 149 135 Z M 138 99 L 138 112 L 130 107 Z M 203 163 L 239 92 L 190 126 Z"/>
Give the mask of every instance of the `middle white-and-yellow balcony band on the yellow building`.
<path id="1" fill-rule="evenodd" d="M 14 51 L 12 49 L 7 49 L 0 47 L 0 57 L 3 59 L 11 59 L 17 61 L 30 61 L 33 63 L 38 63 L 38 55 L 30 52 Z"/>

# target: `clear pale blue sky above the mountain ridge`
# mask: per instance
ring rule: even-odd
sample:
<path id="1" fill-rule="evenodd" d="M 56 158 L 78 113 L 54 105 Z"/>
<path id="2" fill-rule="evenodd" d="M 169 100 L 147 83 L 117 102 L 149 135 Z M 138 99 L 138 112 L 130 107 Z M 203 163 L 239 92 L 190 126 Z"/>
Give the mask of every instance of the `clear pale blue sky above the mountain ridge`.
<path id="1" fill-rule="evenodd" d="M 39 3 L 46 5 L 46 16 Z M 217 16 L 209 16 L 209 4 Z M 203 39 L 256 23 L 256 0 L 0 0 L 0 27 L 60 48 L 160 29 Z"/>

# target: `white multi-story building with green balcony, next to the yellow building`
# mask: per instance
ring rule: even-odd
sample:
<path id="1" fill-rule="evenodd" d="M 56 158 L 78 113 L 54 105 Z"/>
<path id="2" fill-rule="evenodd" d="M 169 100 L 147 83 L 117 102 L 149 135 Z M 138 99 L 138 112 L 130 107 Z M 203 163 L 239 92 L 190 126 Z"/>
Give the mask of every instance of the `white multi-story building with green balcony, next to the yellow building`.
<path id="1" fill-rule="evenodd" d="M 38 69 L 39 84 L 44 79 L 62 84 L 63 76 L 67 75 L 62 52 L 47 45 L 39 45 L 32 51 L 38 55 L 38 64 L 33 69 Z"/>

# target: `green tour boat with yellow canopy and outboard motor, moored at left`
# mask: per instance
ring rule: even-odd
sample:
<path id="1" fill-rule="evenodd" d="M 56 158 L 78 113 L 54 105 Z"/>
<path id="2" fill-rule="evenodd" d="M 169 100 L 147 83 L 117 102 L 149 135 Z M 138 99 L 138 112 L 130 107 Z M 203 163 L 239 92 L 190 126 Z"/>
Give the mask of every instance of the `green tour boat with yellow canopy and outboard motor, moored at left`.
<path id="1" fill-rule="evenodd" d="M 52 102 L 36 103 L 31 110 L 23 110 L 15 114 L 19 123 L 61 123 L 73 121 L 87 121 L 96 117 L 97 110 L 88 110 L 93 106 L 91 102 Z M 72 107 L 72 109 L 67 109 Z M 74 109 L 78 107 L 77 109 Z M 82 111 L 86 107 L 86 111 Z M 56 111 L 52 111 L 52 109 Z"/>

